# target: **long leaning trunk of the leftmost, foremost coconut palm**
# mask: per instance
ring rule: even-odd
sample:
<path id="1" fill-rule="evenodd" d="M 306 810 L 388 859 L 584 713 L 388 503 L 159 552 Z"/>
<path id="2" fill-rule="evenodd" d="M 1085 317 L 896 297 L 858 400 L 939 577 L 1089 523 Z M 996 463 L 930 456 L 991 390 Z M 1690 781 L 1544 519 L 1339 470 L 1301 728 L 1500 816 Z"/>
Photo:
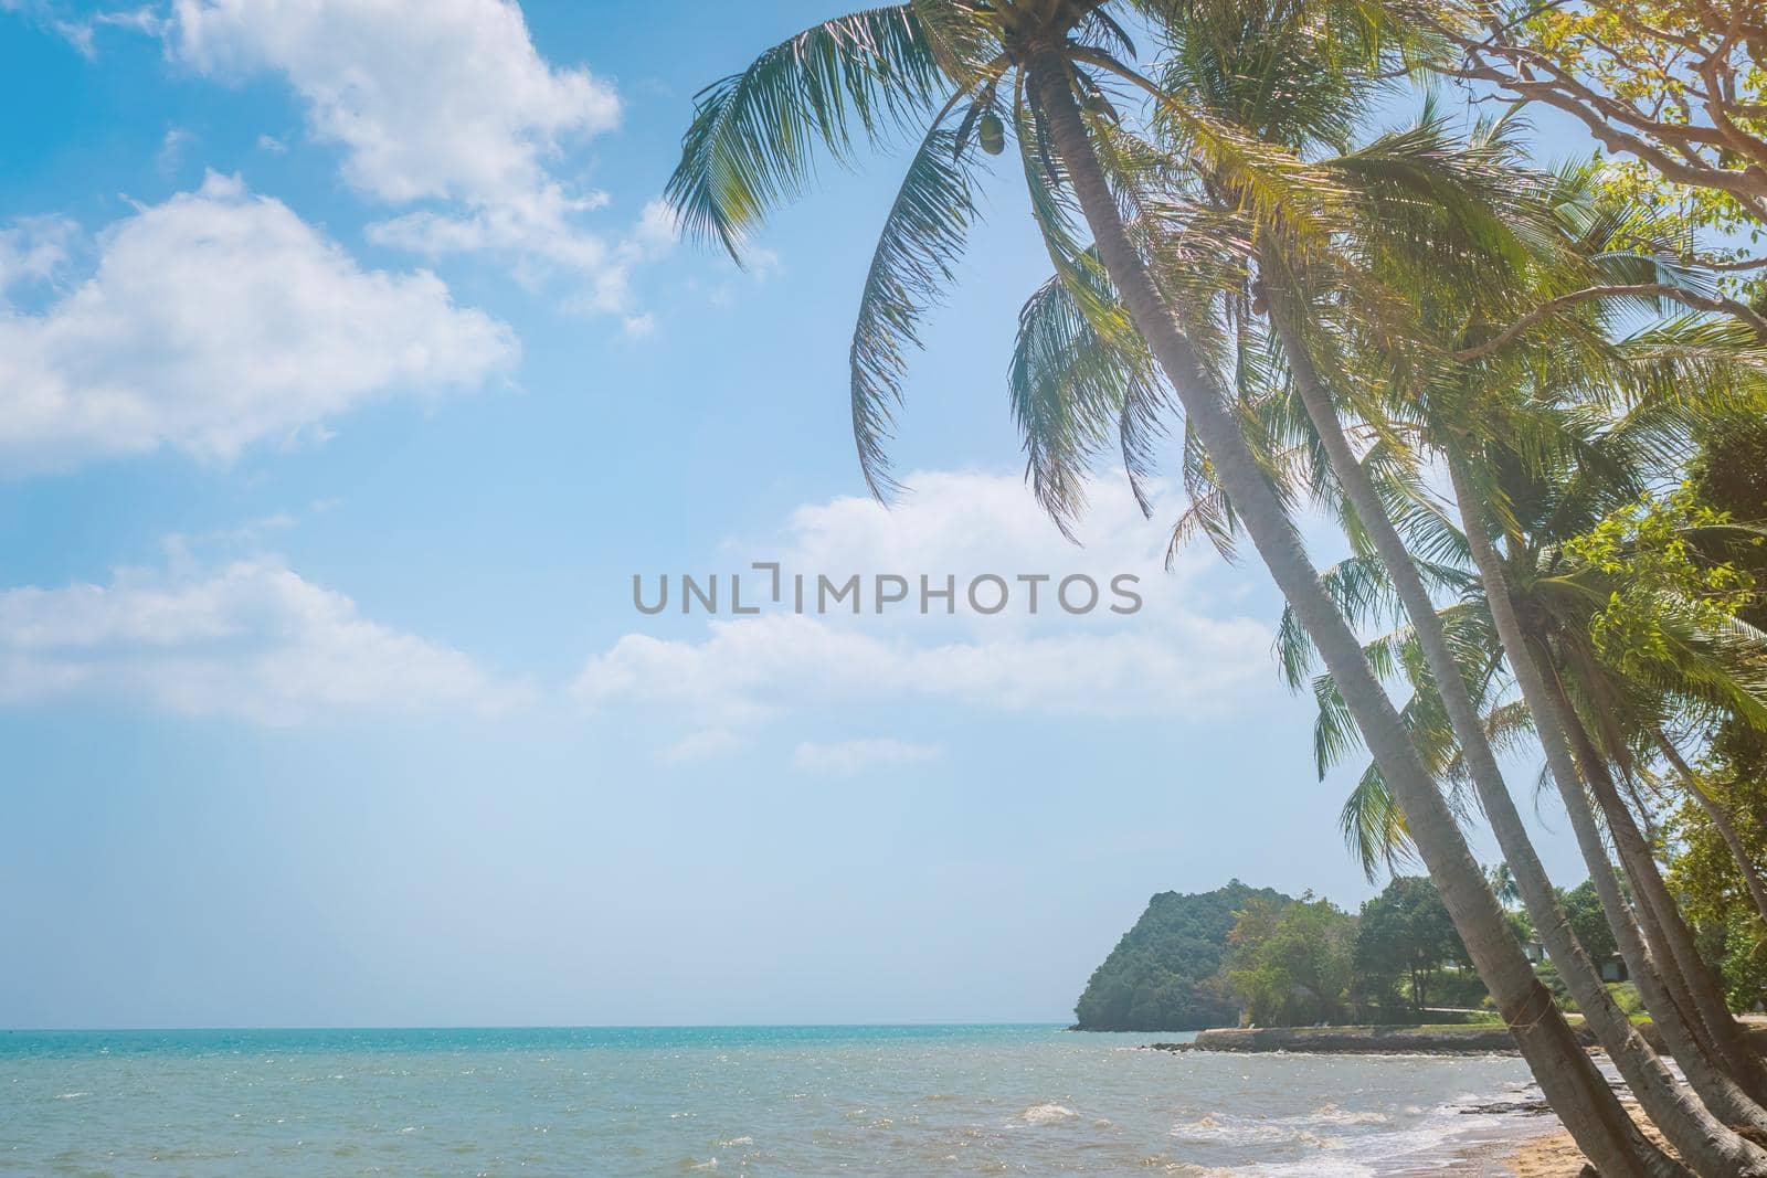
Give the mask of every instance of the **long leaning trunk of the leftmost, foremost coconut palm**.
<path id="1" fill-rule="evenodd" d="M 1320 586 L 1301 537 L 1263 480 L 1239 426 L 1212 394 L 1216 381 L 1207 366 L 1179 330 L 1172 309 L 1129 242 L 1122 210 L 1080 118 L 1060 46 L 1032 46 L 1027 69 L 1039 113 L 1073 182 L 1106 274 L 1182 401 L 1270 576 L 1336 676 L 1345 703 L 1405 811 L 1412 839 L 1442 892 L 1454 927 L 1548 1102 L 1578 1148 L 1608 1178 L 1686 1173 L 1642 1137 L 1589 1054 L 1576 1044 L 1564 1016 L 1509 933 L 1454 814 L 1417 759 L 1392 701 L 1362 657 L 1355 634 Z"/>

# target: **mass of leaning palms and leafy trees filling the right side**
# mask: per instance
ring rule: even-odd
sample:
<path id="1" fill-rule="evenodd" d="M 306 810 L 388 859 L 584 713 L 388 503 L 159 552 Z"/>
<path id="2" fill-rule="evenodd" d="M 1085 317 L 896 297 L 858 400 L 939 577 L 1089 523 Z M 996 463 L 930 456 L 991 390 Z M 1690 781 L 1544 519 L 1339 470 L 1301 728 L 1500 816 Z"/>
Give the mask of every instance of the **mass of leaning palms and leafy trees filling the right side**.
<path id="1" fill-rule="evenodd" d="M 818 159 L 917 145 L 850 341 L 887 498 L 908 353 L 986 185 L 1023 187 L 1051 265 L 1007 366 L 1030 493 L 1069 528 L 1113 450 L 1143 505 L 1179 472 L 1173 544 L 1249 540 L 1316 768 L 1368 756 L 1343 837 L 1371 874 L 1424 871 L 1610 1178 L 1767 1174 L 1767 1070 L 1733 1017 L 1767 920 L 1763 81 L 1751 0 L 910 0 L 709 87 L 668 189 L 740 258 Z M 1536 159 L 1536 108 L 1589 155 Z M 1343 560 L 1315 563 L 1302 510 L 1341 525 Z M 1544 761 L 1587 894 L 1546 874 L 1504 754 Z M 1248 902 L 1228 985 L 1285 1017 L 1376 977 L 1421 1005 L 1451 971 L 1412 955 L 1424 901 L 1407 883 L 1354 933 L 1311 897 Z"/>

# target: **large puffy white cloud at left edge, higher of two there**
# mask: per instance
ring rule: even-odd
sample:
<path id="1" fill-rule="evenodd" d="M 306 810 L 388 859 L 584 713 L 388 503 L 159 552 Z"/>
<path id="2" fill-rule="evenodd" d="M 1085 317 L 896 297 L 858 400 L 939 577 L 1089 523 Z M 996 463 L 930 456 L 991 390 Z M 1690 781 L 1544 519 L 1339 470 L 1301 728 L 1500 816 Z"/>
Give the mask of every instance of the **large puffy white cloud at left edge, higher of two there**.
<path id="1" fill-rule="evenodd" d="M 0 314 L 0 472 L 159 447 L 230 461 L 516 359 L 509 327 L 433 274 L 362 270 L 237 178 L 140 208 L 97 247 L 92 277 L 44 311 Z"/>

